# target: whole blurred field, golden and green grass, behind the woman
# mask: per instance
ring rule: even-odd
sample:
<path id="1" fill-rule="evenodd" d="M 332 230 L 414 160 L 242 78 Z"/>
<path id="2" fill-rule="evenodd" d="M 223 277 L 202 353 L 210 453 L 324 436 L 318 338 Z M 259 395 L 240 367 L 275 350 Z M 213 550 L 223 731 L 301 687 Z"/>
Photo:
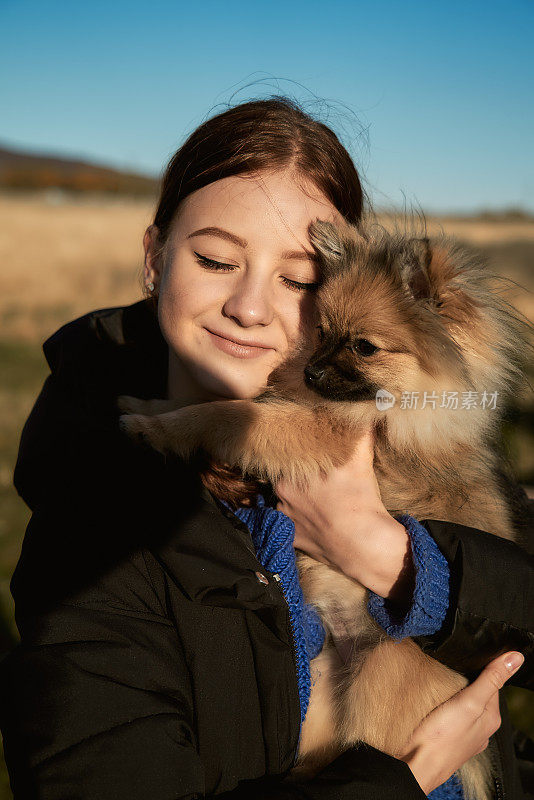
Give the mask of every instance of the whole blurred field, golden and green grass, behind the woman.
<path id="1" fill-rule="evenodd" d="M 142 236 L 147 200 L 63 195 L 0 195 L 0 655 L 16 640 L 9 579 L 28 510 L 12 487 L 20 431 L 47 374 L 41 344 L 63 323 L 95 308 L 141 298 Z M 385 225 L 395 222 L 381 217 Z M 534 220 L 427 220 L 487 255 L 509 279 L 502 291 L 534 321 Z M 534 485 L 534 400 L 518 398 L 507 436 L 520 479 Z M 3 612 L 3 627 L 2 627 Z M 514 721 L 534 733 L 534 708 L 511 692 Z M 10 797 L 0 767 L 0 800 Z"/>

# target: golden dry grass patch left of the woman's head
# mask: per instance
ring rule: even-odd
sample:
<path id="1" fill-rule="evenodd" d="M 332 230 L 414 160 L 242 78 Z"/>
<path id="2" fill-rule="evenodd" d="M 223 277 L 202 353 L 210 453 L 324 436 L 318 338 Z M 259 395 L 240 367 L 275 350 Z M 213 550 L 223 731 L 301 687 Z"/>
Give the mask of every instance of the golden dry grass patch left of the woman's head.
<path id="1" fill-rule="evenodd" d="M 86 311 L 140 297 L 145 202 L 0 196 L 0 329 L 36 341 Z"/>

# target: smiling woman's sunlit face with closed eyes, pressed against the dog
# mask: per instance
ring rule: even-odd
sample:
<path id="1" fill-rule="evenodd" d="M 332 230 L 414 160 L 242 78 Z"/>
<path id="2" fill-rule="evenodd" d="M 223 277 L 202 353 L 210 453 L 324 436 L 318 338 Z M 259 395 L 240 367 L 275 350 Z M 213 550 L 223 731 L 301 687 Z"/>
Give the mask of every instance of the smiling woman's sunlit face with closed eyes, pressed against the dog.
<path id="1" fill-rule="evenodd" d="M 301 337 L 312 335 L 319 279 L 308 239 L 335 207 L 289 170 L 224 178 L 189 195 L 165 253 L 145 234 L 169 345 L 169 398 L 250 398 Z"/>

